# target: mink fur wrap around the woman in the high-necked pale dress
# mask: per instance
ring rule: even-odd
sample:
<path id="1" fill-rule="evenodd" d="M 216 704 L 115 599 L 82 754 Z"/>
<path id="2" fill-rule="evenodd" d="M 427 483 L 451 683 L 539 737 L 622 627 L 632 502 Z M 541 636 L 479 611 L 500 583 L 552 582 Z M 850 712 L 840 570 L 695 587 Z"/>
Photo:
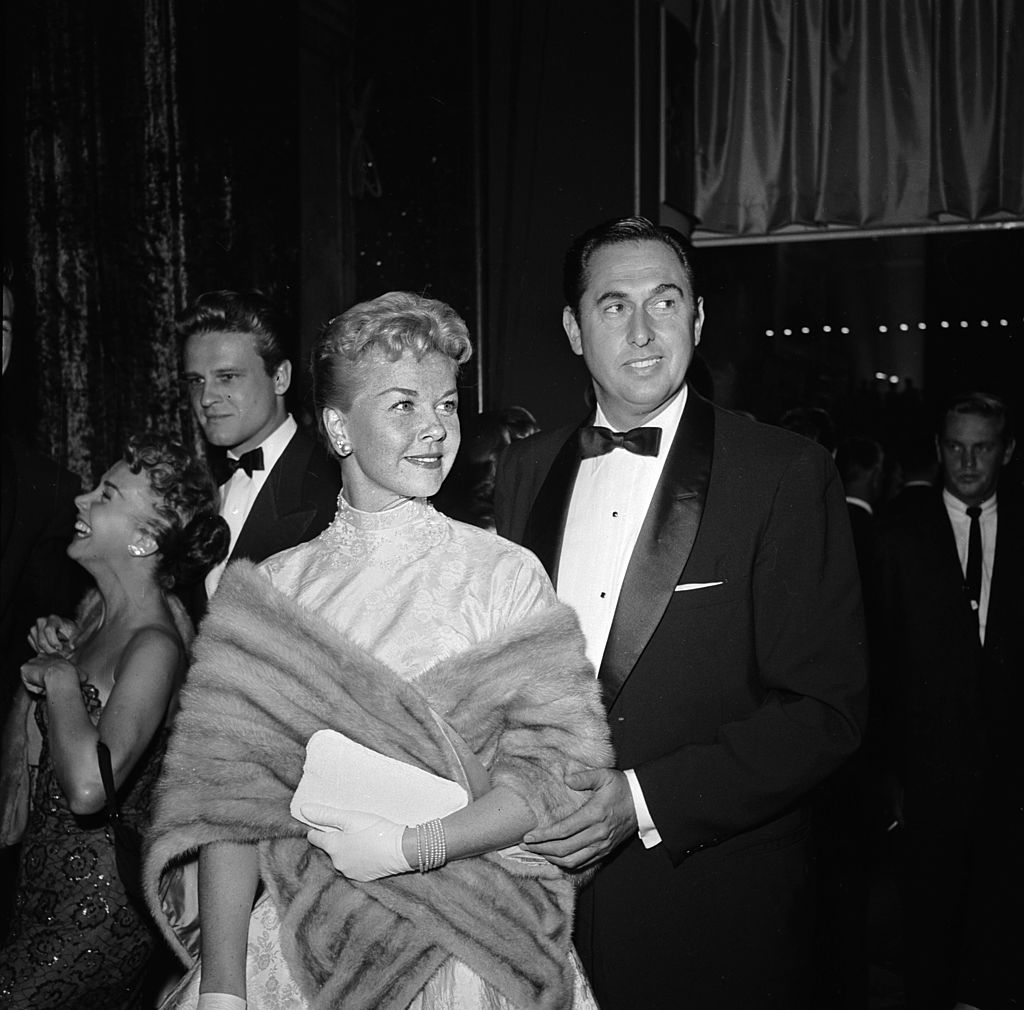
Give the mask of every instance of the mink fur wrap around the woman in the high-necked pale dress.
<path id="1" fill-rule="evenodd" d="M 492 853 L 357 883 L 289 814 L 305 745 L 338 729 L 469 789 L 436 713 L 549 823 L 585 795 L 565 772 L 613 763 L 573 612 L 558 603 L 407 683 L 248 561 L 230 565 L 196 641 L 145 866 L 161 877 L 214 841 L 259 843 L 283 953 L 314 1010 L 404 1008 L 457 957 L 520 1007 L 571 1005 L 573 880 Z"/>

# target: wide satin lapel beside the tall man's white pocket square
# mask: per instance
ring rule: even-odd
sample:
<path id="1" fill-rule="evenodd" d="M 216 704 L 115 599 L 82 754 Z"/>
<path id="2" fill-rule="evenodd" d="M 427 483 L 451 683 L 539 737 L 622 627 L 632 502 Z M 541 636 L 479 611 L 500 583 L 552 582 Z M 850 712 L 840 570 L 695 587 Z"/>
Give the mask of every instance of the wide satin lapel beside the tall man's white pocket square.
<path id="1" fill-rule="evenodd" d="M 689 390 L 686 409 L 626 570 L 601 661 L 610 709 L 665 614 L 700 527 L 715 441 L 715 412 Z"/>

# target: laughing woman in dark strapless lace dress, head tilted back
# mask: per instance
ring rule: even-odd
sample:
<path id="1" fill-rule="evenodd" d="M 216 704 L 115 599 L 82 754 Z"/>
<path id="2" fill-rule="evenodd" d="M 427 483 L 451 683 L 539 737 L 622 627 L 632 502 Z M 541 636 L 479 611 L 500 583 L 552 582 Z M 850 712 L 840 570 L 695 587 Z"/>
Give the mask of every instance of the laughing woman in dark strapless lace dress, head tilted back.
<path id="1" fill-rule="evenodd" d="M 118 876 L 97 744 L 122 822 L 140 830 L 191 640 L 170 590 L 217 563 L 229 537 L 205 465 L 156 435 L 131 438 L 76 505 L 68 553 L 96 590 L 65 625 L 63 655 L 45 650 L 41 623 L 42 651 L 22 668 L 42 749 L 0 951 L 0 1005 L 16 1010 L 138 1005 L 158 939 Z"/>

